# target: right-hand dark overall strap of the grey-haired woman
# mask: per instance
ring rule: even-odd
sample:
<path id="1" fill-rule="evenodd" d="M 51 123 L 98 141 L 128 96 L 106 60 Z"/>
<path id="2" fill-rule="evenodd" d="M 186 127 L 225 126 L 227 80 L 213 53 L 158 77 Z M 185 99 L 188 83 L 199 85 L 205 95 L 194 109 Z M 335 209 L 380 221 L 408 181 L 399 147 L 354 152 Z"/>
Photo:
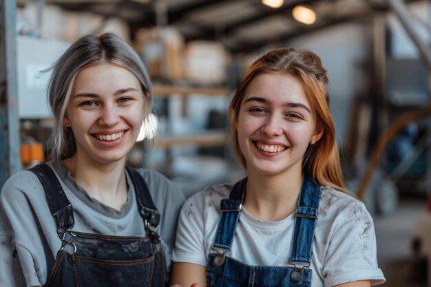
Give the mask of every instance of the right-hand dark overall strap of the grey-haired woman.
<path id="1" fill-rule="evenodd" d="M 154 204 L 151 193 L 149 192 L 147 183 L 143 176 L 135 169 L 129 169 L 130 178 L 134 184 L 136 199 L 138 200 L 140 215 L 143 216 L 145 231 L 152 242 L 160 243 L 160 235 L 158 235 L 158 224 L 160 223 L 160 213 Z"/>

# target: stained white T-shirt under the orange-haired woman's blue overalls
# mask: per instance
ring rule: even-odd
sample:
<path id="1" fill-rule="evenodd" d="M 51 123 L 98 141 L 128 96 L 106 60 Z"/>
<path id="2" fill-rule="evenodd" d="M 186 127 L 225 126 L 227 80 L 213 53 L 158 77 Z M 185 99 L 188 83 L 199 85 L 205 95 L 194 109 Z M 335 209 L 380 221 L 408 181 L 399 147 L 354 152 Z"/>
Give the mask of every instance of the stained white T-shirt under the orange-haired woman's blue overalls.
<path id="1" fill-rule="evenodd" d="M 174 262 L 207 266 L 220 220 L 220 200 L 228 198 L 232 184 L 208 187 L 182 206 Z M 330 187 L 322 188 L 315 228 L 312 286 L 335 286 L 349 281 L 385 281 L 377 266 L 372 217 L 362 202 Z M 291 254 L 295 217 L 277 222 L 253 217 L 242 209 L 231 251 L 227 256 L 244 264 L 286 266 Z"/>

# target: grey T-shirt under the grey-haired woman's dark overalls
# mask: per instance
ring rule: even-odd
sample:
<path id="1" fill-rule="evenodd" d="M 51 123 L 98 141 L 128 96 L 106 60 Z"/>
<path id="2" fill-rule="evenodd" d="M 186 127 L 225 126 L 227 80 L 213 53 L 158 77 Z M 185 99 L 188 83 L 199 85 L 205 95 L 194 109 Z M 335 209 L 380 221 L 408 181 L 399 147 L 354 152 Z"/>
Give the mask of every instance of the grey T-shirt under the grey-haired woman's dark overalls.
<path id="1" fill-rule="evenodd" d="M 70 176 L 62 162 L 50 162 L 67 199 L 74 206 L 73 231 L 116 236 L 145 236 L 133 184 L 121 211 L 91 198 Z M 156 171 L 139 169 L 161 215 L 159 232 L 171 263 L 178 212 L 185 198 L 182 191 Z M 61 240 L 50 213 L 45 191 L 31 171 L 19 171 L 0 193 L 0 286 L 43 286 L 52 268 Z M 14 252 L 17 250 L 17 252 Z"/>

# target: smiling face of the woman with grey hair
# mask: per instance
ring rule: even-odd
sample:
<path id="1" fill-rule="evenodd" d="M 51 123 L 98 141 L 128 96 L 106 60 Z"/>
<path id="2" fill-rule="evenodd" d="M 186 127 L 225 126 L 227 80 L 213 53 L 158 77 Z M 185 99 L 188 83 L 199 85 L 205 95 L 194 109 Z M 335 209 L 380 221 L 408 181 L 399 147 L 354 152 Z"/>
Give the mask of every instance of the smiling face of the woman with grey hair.
<path id="1" fill-rule="evenodd" d="M 123 67 L 101 63 L 76 75 L 64 118 L 76 140 L 75 157 L 107 164 L 125 161 L 145 116 L 143 90 Z"/>

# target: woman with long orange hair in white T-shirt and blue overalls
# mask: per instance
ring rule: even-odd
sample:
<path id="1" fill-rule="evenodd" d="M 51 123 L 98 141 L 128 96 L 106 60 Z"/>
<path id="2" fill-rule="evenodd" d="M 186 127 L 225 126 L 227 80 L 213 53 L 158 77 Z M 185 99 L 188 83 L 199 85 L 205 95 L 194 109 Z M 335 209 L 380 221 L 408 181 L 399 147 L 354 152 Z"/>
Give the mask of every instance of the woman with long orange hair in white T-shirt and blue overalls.
<path id="1" fill-rule="evenodd" d="M 273 50 L 251 65 L 229 107 L 246 178 L 208 187 L 182 207 L 171 284 L 384 281 L 372 218 L 344 188 L 327 81 L 306 50 Z"/>

